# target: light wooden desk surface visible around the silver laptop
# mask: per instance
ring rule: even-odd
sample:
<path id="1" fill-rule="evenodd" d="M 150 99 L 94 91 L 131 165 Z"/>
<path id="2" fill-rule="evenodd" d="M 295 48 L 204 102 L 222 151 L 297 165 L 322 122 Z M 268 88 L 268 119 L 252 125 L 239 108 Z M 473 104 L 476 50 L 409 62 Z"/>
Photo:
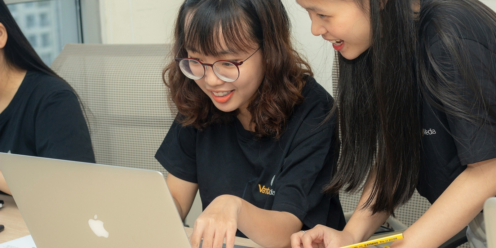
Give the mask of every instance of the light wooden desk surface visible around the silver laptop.
<path id="1" fill-rule="evenodd" d="M 5 226 L 5 230 L 0 232 L 0 243 L 15 240 L 29 235 L 28 228 L 22 219 L 21 213 L 10 195 L 0 194 L 0 200 L 5 201 L 0 208 L 0 225 Z M 185 227 L 186 234 L 189 237 L 193 232 L 192 228 Z M 234 244 L 252 248 L 263 248 L 249 239 L 236 237 Z"/>

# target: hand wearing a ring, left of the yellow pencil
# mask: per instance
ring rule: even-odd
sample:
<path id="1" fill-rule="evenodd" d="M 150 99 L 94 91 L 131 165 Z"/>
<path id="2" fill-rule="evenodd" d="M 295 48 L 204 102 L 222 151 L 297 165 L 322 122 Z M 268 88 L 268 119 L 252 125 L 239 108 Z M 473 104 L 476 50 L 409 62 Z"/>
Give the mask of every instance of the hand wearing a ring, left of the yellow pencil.
<path id="1" fill-rule="evenodd" d="M 322 225 L 291 235 L 292 248 L 337 248 L 355 243 L 349 231 L 337 231 Z"/>

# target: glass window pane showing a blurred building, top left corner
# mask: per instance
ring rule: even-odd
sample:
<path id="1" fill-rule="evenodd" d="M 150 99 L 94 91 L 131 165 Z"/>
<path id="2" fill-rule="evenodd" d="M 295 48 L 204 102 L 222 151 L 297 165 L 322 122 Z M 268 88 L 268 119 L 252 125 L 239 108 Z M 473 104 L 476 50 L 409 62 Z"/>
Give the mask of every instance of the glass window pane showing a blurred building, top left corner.
<path id="1" fill-rule="evenodd" d="M 24 36 L 47 65 L 65 43 L 81 40 L 76 0 L 42 0 L 8 4 Z"/>

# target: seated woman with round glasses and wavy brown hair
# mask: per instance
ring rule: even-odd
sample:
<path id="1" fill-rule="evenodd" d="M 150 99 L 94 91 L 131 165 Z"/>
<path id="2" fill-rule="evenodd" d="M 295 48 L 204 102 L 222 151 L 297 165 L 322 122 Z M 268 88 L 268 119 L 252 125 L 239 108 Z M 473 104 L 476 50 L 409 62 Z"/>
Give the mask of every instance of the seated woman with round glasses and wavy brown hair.
<path id="1" fill-rule="evenodd" d="M 344 225 L 332 171 L 331 96 L 291 47 L 280 0 L 186 0 L 164 70 L 178 116 L 156 158 L 184 219 L 199 189 L 197 248 L 248 237 L 289 247 L 293 232 Z M 238 229 L 238 230 L 237 230 Z"/>

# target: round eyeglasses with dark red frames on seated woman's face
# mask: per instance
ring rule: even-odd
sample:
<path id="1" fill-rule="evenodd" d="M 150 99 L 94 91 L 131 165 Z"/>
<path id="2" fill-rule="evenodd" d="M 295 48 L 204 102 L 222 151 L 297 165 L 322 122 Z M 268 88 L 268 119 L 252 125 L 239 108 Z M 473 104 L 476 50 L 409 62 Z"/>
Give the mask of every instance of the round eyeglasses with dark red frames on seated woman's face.
<path id="1" fill-rule="evenodd" d="M 240 68 L 238 66 L 247 61 L 259 49 L 260 48 L 258 48 L 253 54 L 242 62 L 216 61 L 213 63 L 202 63 L 199 60 L 192 58 L 176 58 L 175 60 L 179 62 L 179 68 L 181 68 L 181 71 L 185 74 L 185 76 L 193 80 L 202 78 L 208 68 L 207 66 L 210 66 L 218 78 L 226 82 L 233 82 L 240 76 Z"/>

